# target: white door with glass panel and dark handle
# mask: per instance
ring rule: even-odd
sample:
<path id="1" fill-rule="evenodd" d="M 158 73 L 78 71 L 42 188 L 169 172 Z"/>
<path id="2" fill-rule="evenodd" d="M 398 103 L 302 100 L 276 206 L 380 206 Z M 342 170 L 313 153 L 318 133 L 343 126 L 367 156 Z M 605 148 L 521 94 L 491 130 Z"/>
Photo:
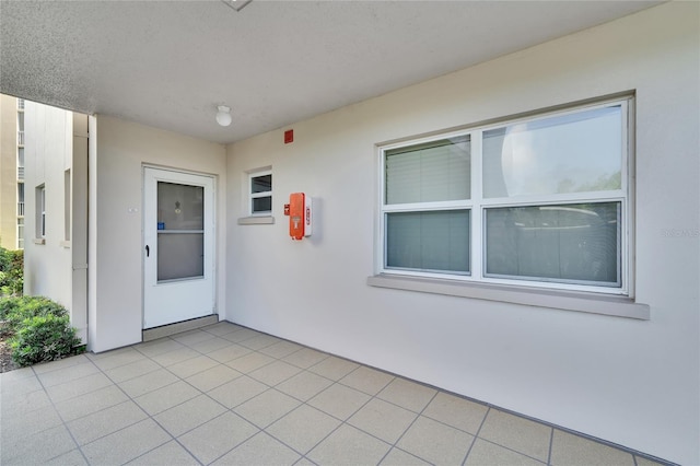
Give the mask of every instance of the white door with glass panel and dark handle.
<path id="1" fill-rule="evenodd" d="M 214 313 L 213 178 L 143 170 L 143 328 Z"/>

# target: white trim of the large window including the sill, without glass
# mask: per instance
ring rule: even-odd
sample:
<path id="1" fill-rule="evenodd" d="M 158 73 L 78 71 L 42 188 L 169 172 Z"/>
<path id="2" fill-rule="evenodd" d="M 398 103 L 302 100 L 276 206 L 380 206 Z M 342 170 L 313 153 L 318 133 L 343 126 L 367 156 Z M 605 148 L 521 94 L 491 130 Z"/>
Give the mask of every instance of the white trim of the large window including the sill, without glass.
<path id="1" fill-rule="evenodd" d="M 480 198 L 481 196 L 481 135 L 485 130 L 513 125 L 520 121 L 533 121 L 548 118 L 553 115 L 579 113 L 584 109 L 600 108 L 610 105 L 622 106 L 622 127 L 626 139 L 622 148 L 621 188 L 612 191 L 587 193 L 585 196 L 576 194 L 553 195 L 545 197 L 518 197 L 518 198 Z M 599 100 L 587 104 L 573 104 L 562 109 L 537 112 L 524 117 L 504 118 L 499 121 L 490 121 L 488 125 L 475 126 L 462 130 L 444 133 L 432 133 L 430 137 L 401 140 L 387 144 L 380 144 L 378 149 L 378 219 L 375 238 L 375 272 L 368 279 L 368 284 L 383 288 L 413 290 L 465 298 L 477 298 L 493 301 L 514 302 L 526 305 L 544 307 L 567 308 L 571 311 L 593 312 L 598 314 L 620 315 L 634 318 L 649 318 L 650 311 L 645 304 L 637 304 L 633 300 L 633 140 L 634 140 L 634 100 L 632 95 L 616 96 L 608 100 Z M 631 120 L 631 124 L 630 124 Z M 423 202 L 409 205 L 385 205 L 385 152 L 392 149 L 420 144 L 457 136 L 470 136 L 471 143 L 471 199 L 445 202 Z M 522 279 L 494 278 L 483 276 L 482 249 L 486 241 L 483 232 L 483 215 L 488 207 L 513 207 L 517 205 L 557 205 L 590 201 L 620 201 L 621 202 L 621 281 L 620 288 L 597 287 L 575 283 L 560 283 L 546 281 L 529 281 Z M 386 232 L 385 219 L 388 212 L 416 211 L 440 207 L 447 209 L 469 209 L 470 230 L 479 232 L 479 238 L 470 241 L 470 275 L 458 276 L 450 273 L 430 273 L 416 270 L 400 270 L 385 268 L 386 263 Z M 481 212 L 481 214 L 478 214 Z M 533 296 L 540 296 L 534 299 Z M 596 305 L 595 303 L 603 303 Z M 605 307 L 605 308 L 603 308 Z"/>

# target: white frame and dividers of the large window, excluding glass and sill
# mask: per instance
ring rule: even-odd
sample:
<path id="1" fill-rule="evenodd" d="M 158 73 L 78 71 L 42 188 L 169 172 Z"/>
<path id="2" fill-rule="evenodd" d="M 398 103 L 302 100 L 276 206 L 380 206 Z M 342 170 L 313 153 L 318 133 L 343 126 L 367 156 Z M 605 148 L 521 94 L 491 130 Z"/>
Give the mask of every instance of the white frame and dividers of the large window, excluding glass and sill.
<path id="1" fill-rule="evenodd" d="M 620 148 L 620 188 L 615 190 L 585 191 L 585 193 L 567 193 L 541 196 L 515 196 L 487 198 L 483 196 L 483 151 L 482 141 L 483 133 L 491 129 L 503 128 L 522 123 L 533 123 L 546 118 L 567 116 L 593 110 L 597 108 L 616 107 L 621 108 L 621 148 Z M 495 287 L 517 287 L 521 289 L 540 289 L 552 291 L 574 291 L 591 292 L 600 295 L 619 295 L 633 296 L 633 234 L 631 225 L 633 225 L 633 138 L 634 138 L 634 96 L 630 94 L 616 96 L 606 100 L 597 100 L 594 102 L 571 104 L 559 106 L 557 108 L 542 109 L 532 112 L 526 115 L 506 117 L 499 120 L 492 120 L 486 124 L 479 124 L 465 127 L 458 130 L 445 132 L 435 132 L 427 137 L 404 139 L 396 142 L 378 144 L 378 215 L 376 231 L 376 264 L 375 271 L 385 276 L 397 276 L 397 278 L 416 278 L 416 279 L 439 279 L 450 280 L 453 283 L 464 282 L 479 286 Z M 410 145 L 425 144 L 442 139 L 469 137 L 470 140 L 470 184 L 471 193 L 469 199 L 439 201 L 439 202 L 413 202 L 405 205 L 387 205 L 386 203 L 386 152 L 406 148 Z M 575 205 L 591 202 L 620 202 L 620 225 L 618 229 L 618 258 L 619 258 L 619 287 L 598 286 L 586 282 L 572 281 L 549 281 L 547 279 L 537 279 L 533 277 L 503 277 L 487 276 L 486 273 L 486 215 L 490 208 L 508 208 L 508 207 L 540 207 L 540 206 L 559 206 Z M 387 214 L 392 212 L 416 212 L 428 210 L 452 210 L 468 209 L 470 211 L 469 223 L 469 257 L 470 273 L 455 275 L 450 272 L 430 272 L 409 269 L 398 269 L 387 267 Z"/>

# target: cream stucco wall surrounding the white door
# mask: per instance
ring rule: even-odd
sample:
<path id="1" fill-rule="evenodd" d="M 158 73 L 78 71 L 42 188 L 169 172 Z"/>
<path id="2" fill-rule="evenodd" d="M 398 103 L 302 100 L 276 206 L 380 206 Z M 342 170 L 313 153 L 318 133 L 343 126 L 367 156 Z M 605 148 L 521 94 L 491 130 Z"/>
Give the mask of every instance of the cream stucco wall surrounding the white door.
<path id="1" fill-rule="evenodd" d="M 182 135 L 97 116 L 91 132 L 90 349 L 100 352 L 141 341 L 142 166 L 152 164 L 217 176 L 217 255 L 226 257 L 225 148 Z M 92 130 L 92 128 L 91 128 Z M 94 140 L 92 139 L 94 138 Z M 217 302 L 225 296 L 223 260 Z"/>

